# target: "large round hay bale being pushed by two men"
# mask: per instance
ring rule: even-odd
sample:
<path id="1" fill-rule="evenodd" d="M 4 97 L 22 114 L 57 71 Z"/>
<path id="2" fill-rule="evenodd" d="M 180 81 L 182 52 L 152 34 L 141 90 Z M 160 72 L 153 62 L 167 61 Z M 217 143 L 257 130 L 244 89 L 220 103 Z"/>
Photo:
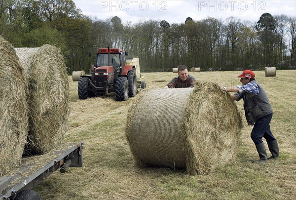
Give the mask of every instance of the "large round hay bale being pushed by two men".
<path id="1" fill-rule="evenodd" d="M 125 134 L 136 165 L 206 174 L 236 156 L 241 128 L 230 95 L 215 83 L 197 82 L 194 88 L 139 95 Z"/>

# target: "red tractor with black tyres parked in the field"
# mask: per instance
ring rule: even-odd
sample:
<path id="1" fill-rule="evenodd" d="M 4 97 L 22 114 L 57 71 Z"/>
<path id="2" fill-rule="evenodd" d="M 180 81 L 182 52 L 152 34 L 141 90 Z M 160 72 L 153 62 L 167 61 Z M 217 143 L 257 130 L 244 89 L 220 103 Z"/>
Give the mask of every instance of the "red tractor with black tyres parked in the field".
<path id="1" fill-rule="evenodd" d="M 82 75 L 78 82 L 78 97 L 86 99 L 115 92 L 117 101 L 126 101 L 137 94 L 137 74 L 133 65 L 127 65 L 124 49 L 99 48 L 97 62 L 91 76 Z"/>

